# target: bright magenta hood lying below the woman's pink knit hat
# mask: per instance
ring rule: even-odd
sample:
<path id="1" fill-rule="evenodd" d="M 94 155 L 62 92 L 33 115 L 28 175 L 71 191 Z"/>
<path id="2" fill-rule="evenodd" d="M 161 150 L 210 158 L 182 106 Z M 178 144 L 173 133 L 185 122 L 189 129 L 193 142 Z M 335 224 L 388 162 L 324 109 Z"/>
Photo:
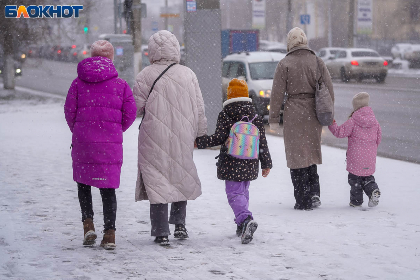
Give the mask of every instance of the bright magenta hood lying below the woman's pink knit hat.
<path id="1" fill-rule="evenodd" d="M 77 76 L 87 82 L 101 82 L 117 77 L 112 60 L 103 56 L 89 57 L 77 65 Z"/>

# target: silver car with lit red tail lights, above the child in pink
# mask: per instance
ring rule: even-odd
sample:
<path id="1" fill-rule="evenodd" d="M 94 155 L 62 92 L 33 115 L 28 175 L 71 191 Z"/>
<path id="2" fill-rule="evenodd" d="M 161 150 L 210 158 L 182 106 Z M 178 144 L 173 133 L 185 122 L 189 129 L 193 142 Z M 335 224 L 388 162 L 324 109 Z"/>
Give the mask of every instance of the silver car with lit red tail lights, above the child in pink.
<path id="1" fill-rule="evenodd" d="M 341 78 L 343 82 L 374 78 L 383 83 L 388 74 L 388 62 L 378 52 L 367 48 L 343 49 L 327 61 L 326 66 L 332 78 Z"/>

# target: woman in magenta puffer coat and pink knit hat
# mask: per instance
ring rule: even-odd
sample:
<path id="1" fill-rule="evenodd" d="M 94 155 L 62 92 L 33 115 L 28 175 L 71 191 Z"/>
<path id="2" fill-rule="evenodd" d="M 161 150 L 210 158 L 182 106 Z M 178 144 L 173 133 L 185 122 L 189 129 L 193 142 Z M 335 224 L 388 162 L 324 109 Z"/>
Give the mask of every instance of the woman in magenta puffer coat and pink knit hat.
<path id="1" fill-rule="evenodd" d="M 115 248 L 117 200 L 123 164 L 123 132 L 136 118 L 130 86 L 118 78 L 112 63 L 114 48 L 108 41 L 96 41 L 92 57 L 79 62 L 78 77 L 67 94 L 64 111 L 72 137 L 73 179 L 84 228 L 83 245 L 96 239 L 93 225 L 91 187 L 100 189 L 104 211 L 104 238 L 101 246 Z"/>

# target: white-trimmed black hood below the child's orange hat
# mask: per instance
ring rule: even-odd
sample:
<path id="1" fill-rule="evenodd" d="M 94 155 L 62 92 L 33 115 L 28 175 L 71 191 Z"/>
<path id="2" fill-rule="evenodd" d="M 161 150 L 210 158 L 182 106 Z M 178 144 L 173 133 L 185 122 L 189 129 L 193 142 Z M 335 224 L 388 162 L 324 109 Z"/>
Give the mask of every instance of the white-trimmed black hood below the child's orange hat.
<path id="1" fill-rule="evenodd" d="M 223 107 L 226 114 L 235 122 L 240 121 L 244 116 L 247 116 L 249 120 L 252 120 L 256 115 L 251 98 L 232 98 L 225 101 Z M 245 119 L 245 121 L 247 120 Z"/>

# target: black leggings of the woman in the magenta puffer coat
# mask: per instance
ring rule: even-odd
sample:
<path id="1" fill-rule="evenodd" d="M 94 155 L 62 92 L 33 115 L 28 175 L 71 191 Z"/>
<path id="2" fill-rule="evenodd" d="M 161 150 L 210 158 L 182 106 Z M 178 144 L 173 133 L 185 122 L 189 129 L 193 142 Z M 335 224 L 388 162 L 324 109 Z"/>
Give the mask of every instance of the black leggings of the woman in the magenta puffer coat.
<path id="1" fill-rule="evenodd" d="M 117 216 L 117 198 L 115 189 L 99 189 L 104 207 L 104 229 L 115 230 L 115 218 Z M 77 195 L 82 210 L 82 222 L 87 218 L 93 219 L 93 201 L 91 187 L 77 183 Z"/>

